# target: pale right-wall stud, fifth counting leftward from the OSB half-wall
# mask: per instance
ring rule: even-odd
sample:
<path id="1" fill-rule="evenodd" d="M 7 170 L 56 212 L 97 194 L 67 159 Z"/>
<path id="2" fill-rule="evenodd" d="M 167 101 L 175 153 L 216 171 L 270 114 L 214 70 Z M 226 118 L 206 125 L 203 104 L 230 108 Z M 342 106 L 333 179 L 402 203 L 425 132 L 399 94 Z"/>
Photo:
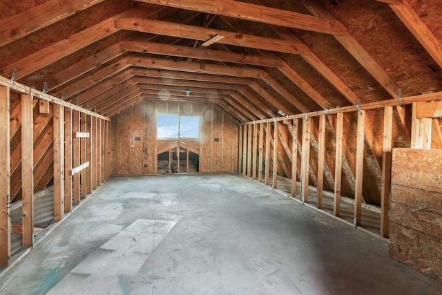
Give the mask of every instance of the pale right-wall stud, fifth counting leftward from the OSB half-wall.
<path id="1" fill-rule="evenodd" d="M 302 119 L 302 160 L 301 160 L 301 197 L 302 202 L 309 200 L 309 162 L 310 162 L 311 118 Z"/>

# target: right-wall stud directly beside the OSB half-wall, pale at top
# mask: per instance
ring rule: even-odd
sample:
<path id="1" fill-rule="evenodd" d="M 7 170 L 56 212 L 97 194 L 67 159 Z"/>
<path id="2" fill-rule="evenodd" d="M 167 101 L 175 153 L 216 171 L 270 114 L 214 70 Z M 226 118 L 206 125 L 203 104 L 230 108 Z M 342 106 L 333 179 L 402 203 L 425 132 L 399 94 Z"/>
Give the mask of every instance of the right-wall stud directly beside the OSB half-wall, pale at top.
<path id="1" fill-rule="evenodd" d="M 390 187 L 392 185 L 392 126 L 393 107 L 386 106 L 384 110 L 380 233 L 384 238 L 388 236 L 388 209 L 390 204 Z"/>

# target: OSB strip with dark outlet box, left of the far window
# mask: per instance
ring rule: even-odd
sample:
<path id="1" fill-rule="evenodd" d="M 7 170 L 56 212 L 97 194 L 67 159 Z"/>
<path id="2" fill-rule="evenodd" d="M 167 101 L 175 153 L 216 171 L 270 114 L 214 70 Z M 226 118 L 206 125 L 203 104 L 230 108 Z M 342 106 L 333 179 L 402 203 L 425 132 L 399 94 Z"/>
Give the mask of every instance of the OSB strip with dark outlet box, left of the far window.
<path id="1" fill-rule="evenodd" d="M 137 107 L 131 108 L 131 174 L 143 173 L 143 134 L 144 104 L 140 104 Z"/>

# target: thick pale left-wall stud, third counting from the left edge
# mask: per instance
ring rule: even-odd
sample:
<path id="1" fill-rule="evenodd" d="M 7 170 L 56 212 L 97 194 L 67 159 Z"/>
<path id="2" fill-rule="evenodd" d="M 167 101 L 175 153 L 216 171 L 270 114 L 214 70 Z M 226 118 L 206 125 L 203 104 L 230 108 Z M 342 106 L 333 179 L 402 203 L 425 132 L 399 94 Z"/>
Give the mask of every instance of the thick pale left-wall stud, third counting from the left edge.
<path id="1" fill-rule="evenodd" d="M 64 106 L 53 106 L 54 133 L 54 220 L 64 217 Z"/>

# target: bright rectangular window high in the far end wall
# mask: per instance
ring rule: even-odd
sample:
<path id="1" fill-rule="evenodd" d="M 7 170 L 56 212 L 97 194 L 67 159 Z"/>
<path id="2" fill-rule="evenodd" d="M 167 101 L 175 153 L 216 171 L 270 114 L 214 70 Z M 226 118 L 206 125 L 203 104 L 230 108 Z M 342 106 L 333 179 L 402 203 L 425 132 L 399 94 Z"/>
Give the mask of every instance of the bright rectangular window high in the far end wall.
<path id="1" fill-rule="evenodd" d="M 157 138 L 200 138 L 200 117 L 158 114 Z"/>

